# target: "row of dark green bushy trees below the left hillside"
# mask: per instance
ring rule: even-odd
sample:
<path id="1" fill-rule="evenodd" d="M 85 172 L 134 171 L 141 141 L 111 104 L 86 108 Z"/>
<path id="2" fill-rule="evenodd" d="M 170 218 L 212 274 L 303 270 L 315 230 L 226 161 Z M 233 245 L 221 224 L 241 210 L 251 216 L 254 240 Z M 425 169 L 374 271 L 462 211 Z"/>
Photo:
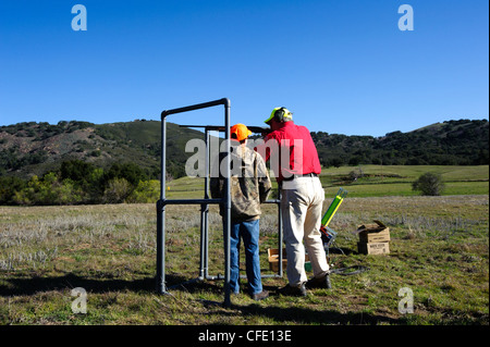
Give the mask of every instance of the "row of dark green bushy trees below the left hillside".
<path id="1" fill-rule="evenodd" d="M 0 205 L 155 202 L 159 194 L 160 182 L 134 163 L 113 163 L 103 170 L 70 160 L 41 177 L 0 177 Z"/>

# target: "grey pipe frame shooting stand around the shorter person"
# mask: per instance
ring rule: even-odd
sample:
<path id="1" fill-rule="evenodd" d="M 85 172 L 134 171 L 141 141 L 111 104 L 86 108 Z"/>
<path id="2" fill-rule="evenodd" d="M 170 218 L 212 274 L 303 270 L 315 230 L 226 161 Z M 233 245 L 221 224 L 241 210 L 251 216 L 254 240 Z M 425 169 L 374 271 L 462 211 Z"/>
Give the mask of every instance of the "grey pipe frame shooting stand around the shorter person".
<path id="1" fill-rule="evenodd" d="M 184 127 L 204 127 L 205 142 L 206 142 L 206 158 L 205 158 L 205 196 L 203 199 L 167 199 L 166 198 L 166 150 L 167 150 L 167 116 L 175 113 L 183 113 L 215 106 L 224 106 L 224 126 L 216 125 L 181 125 Z M 166 110 L 161 112 L 161 179 L 160 179 L 160 199 L 157 201 L 157 293 L 168 294 L 166 286 L 166 207 L 167 205 L 200 205 L 200 262 L 199 276 L 197 278 L 187 281 L 186 283 L 203 280 L 222 280 L 220 275 L 211 276 L 208 273 L 208 241 L 209 241 L 209 223 L 208 212 L 210 203 L 223 203 L 225 207 L 223 215 L 223 236 L 224 236 L 224 306 L 230 307 L 230 234 L 231 234 L 231 198 L 230 198 L 230 175 L 231 175 L 231 158 L 230 146 L 226 146 L 226 172 L 224 176 L 224 196 L 221 199 L 211 199 L 209 197 L 209 173 L 210 173 L 210 153 L 209 140 L 210 131 L 224 132 L 225 140 L 230 141 L 230 100 L 226 98 L 193 104 L 184 108 Z M 281 219 L 281 203 L 280 198 L 275 200 L 267 200 L 266 203 L 275 203 L 279 208 L 279 224 L 278 224 L 278 243 L 281 249 L 282 245 L 282 219 Z M 279 271 L 273 275 L 262 275 L 262 277 L 280 276 L 282 277 L 282 251 L 279 252 Z"/>

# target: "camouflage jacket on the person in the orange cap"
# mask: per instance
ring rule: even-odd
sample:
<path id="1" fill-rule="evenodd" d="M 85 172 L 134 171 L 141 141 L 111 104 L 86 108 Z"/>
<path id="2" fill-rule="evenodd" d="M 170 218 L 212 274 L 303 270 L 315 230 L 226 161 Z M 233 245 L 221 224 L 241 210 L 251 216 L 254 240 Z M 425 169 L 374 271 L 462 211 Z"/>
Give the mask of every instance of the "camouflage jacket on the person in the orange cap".
<path id="1" fill-rule="evenodd" d="M 211 174 L 212 198 L 221 198 L 224 193 L 224 172 L 220 163 L 226 153 L 219 154 Z M 266 163 L 255 150 L 244 146 L 232 146 L 231 151 L 231 218 L 232 220 L 256 220 L 260 218 L 260 203 L 266 201 L 271 190 L 271 182 Z M 223 214 L 220 205 L 220 213 Z"/>

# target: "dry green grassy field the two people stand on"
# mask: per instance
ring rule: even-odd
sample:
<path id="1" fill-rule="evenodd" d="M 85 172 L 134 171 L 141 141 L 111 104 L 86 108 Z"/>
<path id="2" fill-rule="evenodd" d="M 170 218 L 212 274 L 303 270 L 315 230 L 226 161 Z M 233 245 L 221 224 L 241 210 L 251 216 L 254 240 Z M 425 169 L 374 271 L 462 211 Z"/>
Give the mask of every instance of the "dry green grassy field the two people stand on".
<path id="1" fill-rule="evenodd" d="M 0 207 L 0 324 L 488 325 L 488 166 L 442 172 L 448 182 L 463 186 L 486 183 L 487 193 L 485 185 L 475 188 L 478 194 L 462 195 L 463 189 L 441 197 L 401 196 L 396 188 L 384 189 L 409 185 L 425 172 L 415 168 L 393 173 L 402 177 L 388 176 L 389 168 L 382 169 L 383 176 L 368 177 L 366 173 L 380 168 L 362 168 L 365 177 L 346 186 L 352 194 L 330 224 L 339 233 L 339 248 L 331 251 L 330 262 L 333 269 L 362 265 L 367 271 L 333 274 L 331 290 L 314 289 L 306 298 L 275 295 L 286 284 L 285 276 L 265 278 L 266 289 L 271 290 L 268 299 L 257 302 L 242 294 L 232 297 L 230 308 L 221 305 L 222 281 L 176 286 L 171 295 L 155 293 L 155 205 Z M 352 170 L 323 172 L 324 209 L 329 193 L 338 189 L 335 182 Z M 368 178 L 382 182 L 368 183 Z M 188 181 L 189 187 L 193 184 L 198 186 L 196 179 Z M 169 185 L 169 194 L 182 197 L 177 179 Z M 382 194 L 372 196 L 376 191 Z M 384 196 L 389 191 L 393 196 Z M 278 247 L 277 208 L 267 205 L 264 210 L 260 259 L 264 273 L 271 273 L 267 249 Z M 357 252 L 353 232 L 375 219 L 390 226 L 389 255 Z M 169 206 L 167 232 L 167 285 L 196 278 L 199 208 Z M 211 275 L 223 273 L 221 233 L 221 219 L 212 207 Z M 244 289 L 245 284 L 244 280 Z M 86 313 L 72 310 L 76 287 L 86 290 Z M 402 288 L 413 292 L 413 313 L 399 311 Z"/>

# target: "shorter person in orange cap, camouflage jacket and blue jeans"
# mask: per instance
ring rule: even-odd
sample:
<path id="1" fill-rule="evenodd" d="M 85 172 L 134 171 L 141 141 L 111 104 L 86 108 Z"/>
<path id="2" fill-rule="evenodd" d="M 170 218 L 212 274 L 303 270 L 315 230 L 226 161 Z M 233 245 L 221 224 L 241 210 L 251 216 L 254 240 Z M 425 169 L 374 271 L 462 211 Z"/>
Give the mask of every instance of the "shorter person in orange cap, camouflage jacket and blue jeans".
<path id="1" fill-rule="evenodd" d="M 260 203 L 265 202 L 271 190 L 271 182 L 266 163 L 260 154 L 246 146 L 252 134 L 243 124 L 231 127 L 231 257 L 230 285 L 234 294 L 240 293 L 240 241 L 245 246 L 245 265 L 248 289 L 252 298 L 260 300 L 269 293 L 262 289 L 259 261 Z M 233 140 L 234 139 L 234 140 Z M 216 165 L 221 166 L 226 153 L 221 152 Z M 220 170 L 211 177 L 212 198 L 221 198 L 224 190 L 224 177 Z M 223 207 L 220 205 L 220 214 Z M 224 227 L 223 227 L 224 231 Z"/>

